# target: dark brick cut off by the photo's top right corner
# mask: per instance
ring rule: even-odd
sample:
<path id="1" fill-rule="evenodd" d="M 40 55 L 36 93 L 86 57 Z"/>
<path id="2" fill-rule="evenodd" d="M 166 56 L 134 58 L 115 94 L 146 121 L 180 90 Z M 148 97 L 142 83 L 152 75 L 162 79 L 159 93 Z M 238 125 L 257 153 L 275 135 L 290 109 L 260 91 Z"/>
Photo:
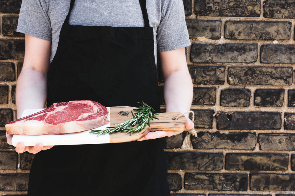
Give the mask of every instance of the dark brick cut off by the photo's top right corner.
<path id="1" fill-rule="evenodd" d="M 266 0 L 263 2 L 263 16 L 275 19 L 295 19 L 294 0 Z"/>

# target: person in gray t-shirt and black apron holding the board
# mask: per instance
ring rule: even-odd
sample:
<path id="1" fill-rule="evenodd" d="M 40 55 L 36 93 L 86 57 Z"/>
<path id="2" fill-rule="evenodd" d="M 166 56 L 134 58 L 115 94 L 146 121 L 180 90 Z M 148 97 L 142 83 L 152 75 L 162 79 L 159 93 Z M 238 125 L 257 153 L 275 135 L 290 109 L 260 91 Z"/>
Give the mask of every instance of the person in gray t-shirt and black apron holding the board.
<path id="1" fill-rule="evenodd" d="M 23 0 L 17 31 L 25 56 L 17 80 L 17 118 L 28 108 L 94 100 L 160 112 L 156 62 L 166 111 L 190 110 L 190 40 L 181 0 Z M 193 122 L 187 117 L 186 128 Z M 170 195 L 161 138 L 155 131 L 127 143 L 16 146 L 35 153 L 28 195 Z M 7 135 L 11 143 L 12 135 Z"/>

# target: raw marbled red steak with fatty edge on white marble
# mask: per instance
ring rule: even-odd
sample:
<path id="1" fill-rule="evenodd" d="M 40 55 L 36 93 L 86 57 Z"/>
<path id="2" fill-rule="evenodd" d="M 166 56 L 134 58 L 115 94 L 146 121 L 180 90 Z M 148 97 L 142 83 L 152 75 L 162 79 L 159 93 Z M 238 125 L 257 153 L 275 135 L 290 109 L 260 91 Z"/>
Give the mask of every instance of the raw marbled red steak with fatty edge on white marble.
<path id="1" fill-rule="evenodd" d="M 75 133 L 100 127 L 109 122 L 109 110 L 90 100 L 54 103 L 49 108 L 6 123 L 8 134 L 47 135 Z"/>

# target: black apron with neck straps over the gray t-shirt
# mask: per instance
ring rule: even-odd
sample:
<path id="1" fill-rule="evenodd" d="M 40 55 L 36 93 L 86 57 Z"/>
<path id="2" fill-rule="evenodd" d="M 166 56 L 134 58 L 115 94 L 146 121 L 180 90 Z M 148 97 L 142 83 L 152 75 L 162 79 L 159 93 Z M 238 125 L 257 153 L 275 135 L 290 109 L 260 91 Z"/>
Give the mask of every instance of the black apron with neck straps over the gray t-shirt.
<path id="1" fill-rule="evenodd" d="M 145 0 L 145 27 L 69 25 L 60 31 L 47 76 L 47 105 L 93 100 L 160 112 L 153 28 Z M 130 8 L 132 9 L 132 8 Z M 35 155 L 28 195 L 170 195 L 161 140 L 54 146 Z"/>

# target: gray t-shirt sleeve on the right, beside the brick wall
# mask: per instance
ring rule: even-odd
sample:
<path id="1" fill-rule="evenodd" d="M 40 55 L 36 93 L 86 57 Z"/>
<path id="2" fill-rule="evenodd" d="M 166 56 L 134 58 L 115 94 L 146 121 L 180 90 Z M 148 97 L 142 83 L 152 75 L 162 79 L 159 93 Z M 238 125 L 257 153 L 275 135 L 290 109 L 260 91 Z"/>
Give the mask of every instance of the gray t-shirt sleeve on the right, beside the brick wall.
<path id="1" fill-rule="evenodd" d="M 164 1 L 157 28 L 158 50 L 165 52 L 191 45 L 182 0 Z"/>

